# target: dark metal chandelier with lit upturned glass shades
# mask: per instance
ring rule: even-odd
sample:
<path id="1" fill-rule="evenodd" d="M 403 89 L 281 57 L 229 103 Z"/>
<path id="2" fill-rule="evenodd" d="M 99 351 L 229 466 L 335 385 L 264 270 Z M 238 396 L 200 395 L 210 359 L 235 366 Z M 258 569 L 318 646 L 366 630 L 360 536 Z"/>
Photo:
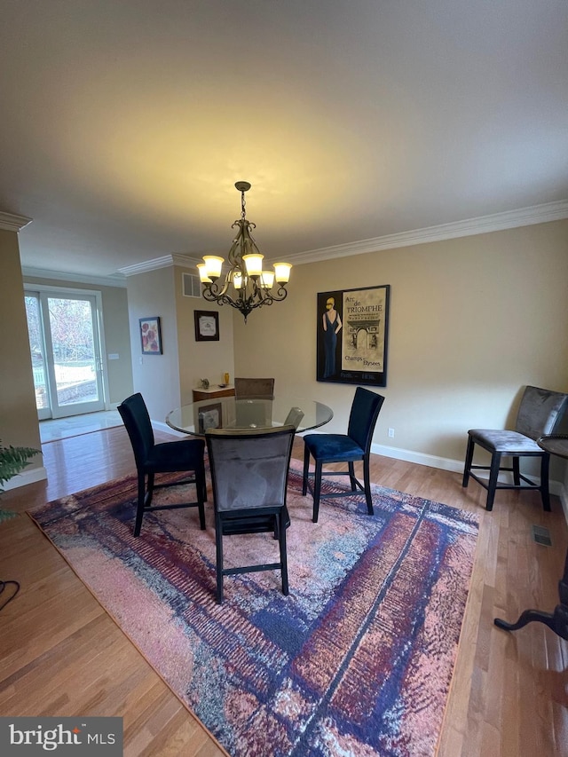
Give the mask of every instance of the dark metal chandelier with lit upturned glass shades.
<path id="1" fill-rule="evenodd" d="M 231 305 L 240 311 L 247 322 L 248 314 L 262 305 L 279 303 L 288 296 L 286 284 L 290 278 L 289 263 L 275 263 L 273 271 L 263 271 L 263 258 L 256 247 L 252 229 L 256 228 L 245 216 L 245 192 L 250 189 L 248 181 L 235 184 L 241 193 L 241 217 L 231 228 L 238 228 L 229 250 L 229 269 L 222 276 L 225 259 L 216 255 L 203 256 L 203 263 L 197 265 L 202 295 L 209 303 Z"/>

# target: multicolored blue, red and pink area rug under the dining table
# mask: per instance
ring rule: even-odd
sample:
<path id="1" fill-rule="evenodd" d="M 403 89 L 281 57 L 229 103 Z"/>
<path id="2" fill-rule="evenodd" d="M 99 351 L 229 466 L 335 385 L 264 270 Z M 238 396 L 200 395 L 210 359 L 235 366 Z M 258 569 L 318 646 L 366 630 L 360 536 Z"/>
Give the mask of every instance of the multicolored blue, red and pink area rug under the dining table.
<path id="1" fill-rule="evenodd" d="M 338 490 L 338 480 L 325 486 Z M 185 487 L 159 490 L 184 501 Z M 232 757 L 436 752 L 469 590 L 477 517 L 373 486 L 312 498 L 290 470 L 290 595 L 280 572 L 225 578 L 196 509 L 161 510 L 132 536 L 136 481 L 31 510 L 36 524 L 181 701 Z M 187 501 L 187 499 L 185 499 Z M 267 534 L 225 538 L 225 565 L 272 562 Z"/>

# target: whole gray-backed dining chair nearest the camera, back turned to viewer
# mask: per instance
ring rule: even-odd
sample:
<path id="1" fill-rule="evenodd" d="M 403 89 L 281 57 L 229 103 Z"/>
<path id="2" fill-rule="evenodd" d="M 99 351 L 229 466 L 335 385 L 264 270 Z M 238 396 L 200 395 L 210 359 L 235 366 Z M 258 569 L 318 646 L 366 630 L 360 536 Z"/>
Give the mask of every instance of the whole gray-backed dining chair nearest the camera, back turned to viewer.
<path id="1" fill-rule="evenodd" d="M 282 594 L 288 595 L 286 508 L 288 468 L 296 429 L 211 429 L 205 434 L 215 506 L 217 603 L 223 603 L 224 576 L 280 570 Z M 272 532 L 278 540 L 277 563 L 225 568 L 223 537 L 239 533 Z"/>

